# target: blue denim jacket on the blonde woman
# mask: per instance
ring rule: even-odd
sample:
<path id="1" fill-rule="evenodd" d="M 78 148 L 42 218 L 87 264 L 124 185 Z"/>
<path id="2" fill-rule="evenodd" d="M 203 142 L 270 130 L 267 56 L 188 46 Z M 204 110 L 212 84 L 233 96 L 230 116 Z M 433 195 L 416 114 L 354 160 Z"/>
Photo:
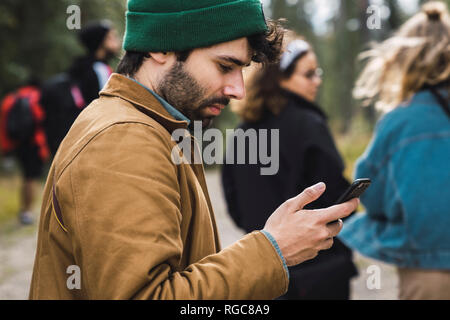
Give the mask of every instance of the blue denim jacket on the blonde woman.
<path id="1" fill-rule="evenodd" d="M 342 241 L 400 267 L 450 269 L 450 119 L 431 92 L 379 121 L 355 177 L 372 185 Z"/>

